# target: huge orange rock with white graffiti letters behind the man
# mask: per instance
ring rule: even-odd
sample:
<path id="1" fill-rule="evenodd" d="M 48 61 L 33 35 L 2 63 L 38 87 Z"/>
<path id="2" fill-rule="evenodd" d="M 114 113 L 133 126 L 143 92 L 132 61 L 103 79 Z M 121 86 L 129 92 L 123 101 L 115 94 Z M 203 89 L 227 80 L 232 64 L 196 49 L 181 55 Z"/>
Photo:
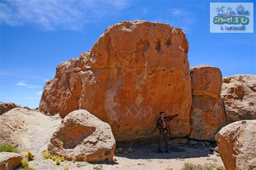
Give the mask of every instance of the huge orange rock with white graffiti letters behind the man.
<path id="1" fill-rule="evenodd" d="M 109 123 L 117 141 L 157 138 L 159 112 L 179 114 L 170 137 L 190 131 L 191 78 L 182 29 L 123 21 L 110 26 L 87 53 L 59 64 L 39 110 L 63 118 L 86 109 Z"/>

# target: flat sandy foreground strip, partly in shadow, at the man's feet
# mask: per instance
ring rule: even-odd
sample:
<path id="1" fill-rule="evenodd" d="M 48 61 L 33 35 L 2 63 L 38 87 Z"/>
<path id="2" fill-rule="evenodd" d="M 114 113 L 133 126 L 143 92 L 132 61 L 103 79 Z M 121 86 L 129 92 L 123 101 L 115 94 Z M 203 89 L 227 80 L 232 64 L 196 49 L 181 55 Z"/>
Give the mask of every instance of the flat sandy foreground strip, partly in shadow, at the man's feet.
<path id="1" fill-rule="evenodd" d="M 206 143 L 206 144 L 205 144 Z M 35 154 L 35 160 L 29 166 L 35 169 L 181 169 L 185 162 L 195 165 L 211 163 L 223 165 L 217 154 L 212 151 L 216 143 L 196 142 L 194 144 L 169 145 L 169 153 L 157 153 L 157 143 L 138 144 L 128 152 L 130 147 L 123 147 L 120 153 L 115 153 L 113 162 L 56 162 L 42 158 L 42 153 Z M 120 147 L 117 147 L 116 151 Z M 163 148 L 162 148 L 163 149 Z"/>

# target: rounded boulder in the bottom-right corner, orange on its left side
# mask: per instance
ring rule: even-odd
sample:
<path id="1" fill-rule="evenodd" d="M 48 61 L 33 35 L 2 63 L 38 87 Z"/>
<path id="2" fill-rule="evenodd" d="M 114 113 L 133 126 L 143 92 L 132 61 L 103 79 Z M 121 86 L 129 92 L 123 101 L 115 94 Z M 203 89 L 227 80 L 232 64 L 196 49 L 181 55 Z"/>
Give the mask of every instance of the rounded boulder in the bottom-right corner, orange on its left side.
<path id="1" fill-rule="evenodd" d="M 256 120 L 241 120 L 216 135 L 219 153 L 227 170 L 256 169 Z"/>

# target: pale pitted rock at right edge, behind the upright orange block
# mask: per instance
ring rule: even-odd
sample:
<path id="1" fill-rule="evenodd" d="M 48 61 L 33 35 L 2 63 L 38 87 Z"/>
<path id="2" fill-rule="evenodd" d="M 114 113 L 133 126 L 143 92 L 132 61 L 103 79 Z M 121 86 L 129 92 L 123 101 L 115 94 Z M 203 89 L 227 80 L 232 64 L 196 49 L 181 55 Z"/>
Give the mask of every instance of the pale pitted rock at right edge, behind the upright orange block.
<path id="1" fill-rule="evenodd" d="M 256 119 L 256 75 L 224 77 L 221 96 L 228 124 Z"/>

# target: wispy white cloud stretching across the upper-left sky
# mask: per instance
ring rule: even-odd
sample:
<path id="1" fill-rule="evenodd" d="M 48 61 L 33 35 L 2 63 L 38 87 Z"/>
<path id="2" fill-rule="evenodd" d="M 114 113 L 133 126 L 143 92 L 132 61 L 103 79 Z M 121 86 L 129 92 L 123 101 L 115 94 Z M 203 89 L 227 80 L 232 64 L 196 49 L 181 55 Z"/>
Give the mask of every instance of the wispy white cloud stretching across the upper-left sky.
<path id="1" fill-rule="evenodd" d="M 1 1 L 1 23 L 32 25 L 43 30 L 79 31 L 85 23 L 126 7 L 125 1 Z"/>

